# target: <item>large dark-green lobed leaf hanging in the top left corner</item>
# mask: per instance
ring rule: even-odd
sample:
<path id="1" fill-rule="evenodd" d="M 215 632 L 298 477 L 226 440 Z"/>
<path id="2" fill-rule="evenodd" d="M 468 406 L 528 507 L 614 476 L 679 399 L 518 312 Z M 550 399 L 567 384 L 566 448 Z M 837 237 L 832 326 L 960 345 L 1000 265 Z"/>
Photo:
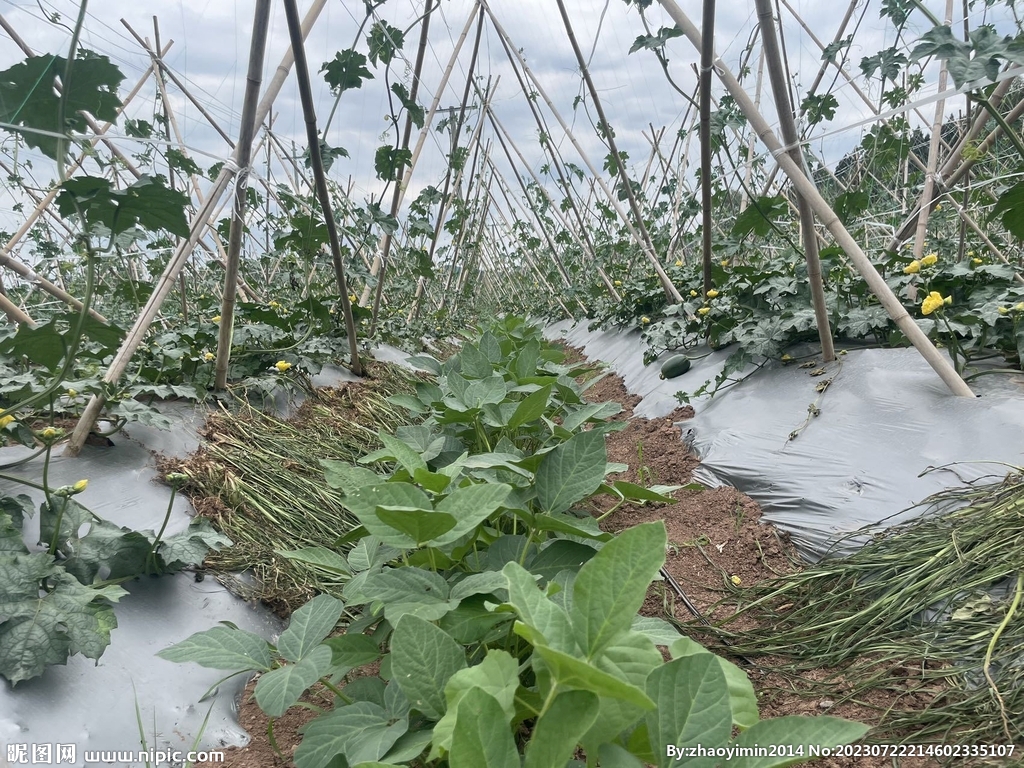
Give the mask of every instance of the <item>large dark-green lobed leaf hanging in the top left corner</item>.
<path id="1" fill-rule="evenodd" d="M 46 133 L 81 133 L 88 123 L 80 112 L 100 122 L 114 122 L 121 109 L 118 86 L 124 75 L 106 56 L 82 49 L 72 66 L 63 104 L 65 124 L 59 125 L 61 96 L 57 83 L 65 77 L 67 63 L 61 56 L 29 56 L 0 72 L 0 123 L 24 129 L 25 142 L 53 160 L 61 150 L 67 154 L 68 143 L 61 147 L 59 139 Z"/>

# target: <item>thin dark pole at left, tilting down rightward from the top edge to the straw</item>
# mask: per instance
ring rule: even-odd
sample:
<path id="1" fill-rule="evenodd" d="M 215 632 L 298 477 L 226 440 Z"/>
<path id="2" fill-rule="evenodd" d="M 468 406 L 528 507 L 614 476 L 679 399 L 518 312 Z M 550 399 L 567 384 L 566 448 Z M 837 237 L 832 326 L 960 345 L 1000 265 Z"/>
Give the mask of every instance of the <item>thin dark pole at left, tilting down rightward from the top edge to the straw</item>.
<path id="1" fill-rule="evenodd" d="M 334 275 L 338 284 L 341 310 L 345 317 L 345 333 L 348 335 L 349 368 L 356 376 L 362 376 L 362 362 L 359 360 L 358 339 L 355 336 L 355 318 L 352 316 L 352 304 L 348 300 L 348 285 L 345 280 L 345 265 L 341 260 L 341 243 L 338 240 L 338 225 L 334 220 L 334 210 L 331 207 L 331 193 L 327 188 L 327 174 L 324 171 L 324 158 L 321 155 L 319 133 L 316 130 L 316 113 L 313 106 L 312 87 L 309 83 L 309 68 L 306 65 L 304 47 L 305 35 L 299 24 L 299 9 L 295 0 L 285 0 L 285 15 L 288 17 L 288 32 L 292 42 L 292 54 L 295 56 L 295 78 L 299 86 L 299 99 L 302 102 L 302 114 L 306 123 L 306 142 L 309 144 L 309 165 L 316 186 L 316 198 L 324 212 L 324 222 L 327 224 L 328 239 L 331 241 L 331 260 L 334 262 Z"/>

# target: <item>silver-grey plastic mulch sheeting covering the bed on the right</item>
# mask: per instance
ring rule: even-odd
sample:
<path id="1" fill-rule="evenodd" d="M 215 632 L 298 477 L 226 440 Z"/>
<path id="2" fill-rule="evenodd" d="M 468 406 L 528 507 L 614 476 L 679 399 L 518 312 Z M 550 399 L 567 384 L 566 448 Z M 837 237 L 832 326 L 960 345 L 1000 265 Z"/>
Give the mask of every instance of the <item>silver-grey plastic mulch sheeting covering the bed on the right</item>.
<path id="1" fill-rule="evenodd" d="M 548 336 L 608 362 L 631 392 L 643 395 L 635 413 L 648 418 L 670 413 L 674 392 L 714 378 L 729 351 L 663 381 L 660 360 L 643 366 L 635 331 L 559 324 Z M 819 368 L 770 364 L 711 399 L 694 400 L 695 417 L 682 423 L 684 439 L 701 459 L 694 479 L 742 490 L 809 559 L 846 534 L 919 514 L 910 508 L 932 494 L 1005 474 L 999 462 L 1024 465 L 1024 376 L 980 377 L 971 382 L 980 395 L 972 399 L 950 394 L 913 349 L 852 349 L 812 376 Z M 927 472 L 950 464 L 956 466 Z"/>

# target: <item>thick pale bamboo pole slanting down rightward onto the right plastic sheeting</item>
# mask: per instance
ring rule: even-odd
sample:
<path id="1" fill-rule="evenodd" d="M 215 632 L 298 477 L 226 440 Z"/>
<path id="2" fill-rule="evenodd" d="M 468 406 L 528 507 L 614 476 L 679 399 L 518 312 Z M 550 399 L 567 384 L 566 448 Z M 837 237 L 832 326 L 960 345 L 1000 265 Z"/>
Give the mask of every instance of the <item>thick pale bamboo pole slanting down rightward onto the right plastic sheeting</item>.
<path id="1" fill-rule="evenodd" d="M 679 25 L 679 28 L 686 38 L 689 39 L 690 43 L 699 50 L 700 33 L 693 26 L 693 23 L 690 22 L 686 13 L 683 12 L 683 9 L 676 4 L 675 0 L 658 0 L 658 2 L 668 11 L 672 19 Z M 804 176 L 800 166 L 783 150 L 781 142 L 772 131 L 768 121 L 755 109 L 751 97 L 736 81 L 732 73 L 729 72 L 725 62 L 717 59 L 715 61 L 715 70 L 729 93 L 735 99 L 736 104 L 746 116 L 751 127 L 757 132 L 765 146 L 768 147 L 768 151 L 775 157 L 782 171 L 790 177 L 790 181 L 794 187 L 807 198 L 815 215 L 821 219 L 828 231 L 836 238 L 836 242 L 846 252 L 847 256 L 849 256 L 850 261 L 853 262 L 853 265 L 867 284 L 868 290 L 879 299 L 893 323 L 899 327 L 953 394 L 964 397 L 974 397 L 974 392 L 971 391 L 971 388 L 964 379 L 949 365 L 949 360 L 935 348 L 935 345 L 929 341 L 925 333 L 918 328 L 918 324 L 913 322 L 913 318 L 907 314 L 906 309 L 903 308 L 903 305 L 896 298 L 896 295 L 893 294 L 892 289 L 889 288 L 882 275 L 874 269 L 874 266 L 866 254 L 864 254 L 860 245 L 847 231 L 846 227 L 843 226 L 843 222 L 840 221 L 836 212 L 828 206 L 828 203 L 821 197 L 814 184 Z"/>

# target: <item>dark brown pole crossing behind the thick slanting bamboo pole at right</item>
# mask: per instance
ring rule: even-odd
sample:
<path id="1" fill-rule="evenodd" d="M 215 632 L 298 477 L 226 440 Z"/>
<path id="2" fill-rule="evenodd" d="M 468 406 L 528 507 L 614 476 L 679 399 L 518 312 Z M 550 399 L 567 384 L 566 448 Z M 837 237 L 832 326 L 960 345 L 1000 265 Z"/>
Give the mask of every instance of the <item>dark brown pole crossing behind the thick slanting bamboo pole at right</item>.
<path id="1" fill-rule="evenodd" d="M 775 35 L 775 22 L 772 17 L 771 0 L 756 0 L 756 4 L 761 28 L 761 41 L 765 58 L 768 59 L 768 78 L 775 96 L 775 111 L 779 116 L 782 140 L 794 147 L 790 151 L 790 157 L 806 173 L 803 154 L 800 147 L 796 146 L 800 140 L 800 134 L 797 131 L 797 121 L 793 116 L 793 104 L 790 102 L 790 91 L 786 88 L 782 56 Z M 707 49 L 703 51 L 703 55 L 710 55 Z M 711 73 L 709 72 L 708 75 L 710 77 Z M 811 288 L 811 302 L 814 305 L 814 321 L 818 327 L 818 340 L 821 342 L 821 356 L 825 362 L 831 362 L 836 359 L 836 347 L 833 344 L 828 308 L 825 306 L 825 289 L 821 283 L 821 260 L 818 258 L 814 212 L 806 198 L 800 193 L 797 193 L 797 208 L 800 210 L 800 234 L 804 244 L 804 259 L 807 262 L 807 280 Z"/>

